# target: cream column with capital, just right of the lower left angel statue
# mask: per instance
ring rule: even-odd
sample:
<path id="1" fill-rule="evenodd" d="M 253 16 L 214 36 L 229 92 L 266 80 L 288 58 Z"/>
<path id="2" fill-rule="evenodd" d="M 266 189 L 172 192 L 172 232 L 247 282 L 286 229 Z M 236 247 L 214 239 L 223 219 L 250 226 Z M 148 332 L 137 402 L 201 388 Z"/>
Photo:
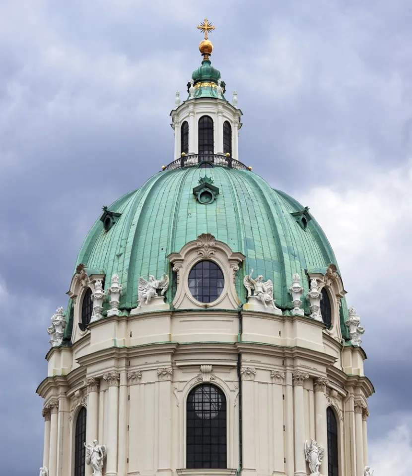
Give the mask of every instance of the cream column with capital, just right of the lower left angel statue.
<path id="1" fill-rule="evenodd" d="M 119 412 L 119 379 L 117 372 L 103 375 L 109 383 L 108 390 L 108 422 L 107 422 L 107 462 L 106 476 L 117 475 L 117 441 L 118 441 L 118 412 Z"/>

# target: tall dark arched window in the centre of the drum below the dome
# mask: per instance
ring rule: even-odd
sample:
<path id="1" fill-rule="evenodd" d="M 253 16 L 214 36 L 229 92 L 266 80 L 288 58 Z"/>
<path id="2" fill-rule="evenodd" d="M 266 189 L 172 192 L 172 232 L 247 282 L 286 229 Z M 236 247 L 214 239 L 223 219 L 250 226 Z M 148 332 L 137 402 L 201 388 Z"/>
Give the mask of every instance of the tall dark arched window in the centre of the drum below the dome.
<path id="1" fill-rule="evenodd" d="M 188 395 L 186 468 L 226 469 L 226 397 L 203 384 Z"/>

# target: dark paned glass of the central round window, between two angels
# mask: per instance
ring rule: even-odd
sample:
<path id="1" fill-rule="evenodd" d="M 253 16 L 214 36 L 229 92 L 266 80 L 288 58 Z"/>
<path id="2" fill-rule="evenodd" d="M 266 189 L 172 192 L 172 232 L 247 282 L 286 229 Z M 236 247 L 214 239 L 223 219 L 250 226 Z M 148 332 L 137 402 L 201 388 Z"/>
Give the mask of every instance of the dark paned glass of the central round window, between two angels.
<path id="1" fill-rule="evenodd" d="M 222 270 L 211 261 L 200 261 L 189 273 L 189 289 L 198 301 L 215 301 L 221 295 L 223 286 Z"/>

